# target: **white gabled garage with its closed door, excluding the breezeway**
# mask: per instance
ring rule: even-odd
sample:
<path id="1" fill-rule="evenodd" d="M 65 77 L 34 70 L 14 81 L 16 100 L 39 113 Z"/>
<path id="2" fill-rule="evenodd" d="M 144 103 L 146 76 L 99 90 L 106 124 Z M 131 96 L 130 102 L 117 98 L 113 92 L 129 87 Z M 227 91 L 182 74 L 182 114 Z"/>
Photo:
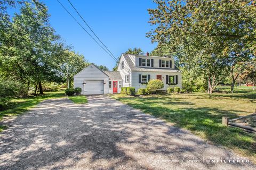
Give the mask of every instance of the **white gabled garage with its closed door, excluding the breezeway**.
<path id="1" fill-rule="evenodd" d="M 82 89 L 82 95 L 100 95 L 109 93 L 109 76 L 94 64 L 90 64 L 74 75 L 74 88 Z"/>

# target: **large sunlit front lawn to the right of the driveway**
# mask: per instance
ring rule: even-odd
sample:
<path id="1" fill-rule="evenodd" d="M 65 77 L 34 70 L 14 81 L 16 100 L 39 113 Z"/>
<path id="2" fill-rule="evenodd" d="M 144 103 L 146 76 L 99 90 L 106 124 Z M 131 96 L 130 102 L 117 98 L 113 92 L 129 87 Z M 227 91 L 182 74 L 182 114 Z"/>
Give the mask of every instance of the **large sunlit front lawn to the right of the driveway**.
<path id="1" fill-rule="evenodd" d="M 190 130 L 215 145 L 231 148 L 256 162 L 256 135 L 237 128 L 227 128 L 221 124 L 222 116 L 235 118 L 255 112 L 256 92 L 251 88 L 236 87 L 237 92 L 234 94 L 111 97 L 144 113 L 160 117 L 174 126 Z"/>

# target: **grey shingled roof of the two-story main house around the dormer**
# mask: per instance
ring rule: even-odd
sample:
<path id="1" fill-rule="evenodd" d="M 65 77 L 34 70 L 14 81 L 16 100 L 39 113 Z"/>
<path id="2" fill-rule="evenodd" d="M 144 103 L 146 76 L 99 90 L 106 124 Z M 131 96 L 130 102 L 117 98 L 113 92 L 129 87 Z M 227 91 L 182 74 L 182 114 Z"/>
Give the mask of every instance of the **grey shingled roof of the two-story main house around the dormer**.
<path id="1" fill-rule="evenodd" d="M 132 71 L 181 72 L 177 66 L 174 66 L 174 69 L 165 69 L 165 68 L 156 68 L 156 67 L 136 67 L 129 55 L 130 54 L 123 54 L 124 59 L 126 60 L 127 64 L 129 65 Z M 141 56 L 141 55 L 134 55 L 134 56 Z M 164 57 L 164 58 L 170 58 L 170 57 Z"/>

